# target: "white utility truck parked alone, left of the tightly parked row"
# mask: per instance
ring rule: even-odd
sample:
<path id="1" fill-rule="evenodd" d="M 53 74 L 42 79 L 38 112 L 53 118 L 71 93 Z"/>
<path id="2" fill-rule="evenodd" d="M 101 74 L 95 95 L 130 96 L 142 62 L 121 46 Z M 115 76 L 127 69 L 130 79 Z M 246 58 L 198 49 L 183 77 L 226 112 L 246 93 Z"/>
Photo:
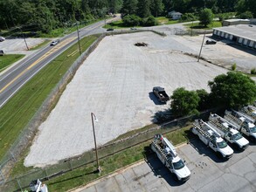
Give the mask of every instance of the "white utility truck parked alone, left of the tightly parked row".
<path id="1" fill-rule="evenodd" d="M 162 134 L 156 134 L 150 145 L 163 165 L 175 175 L 176 180 L 185 182 L 190 179 L 190 169 L 176 154 L 175 147 Z"/>

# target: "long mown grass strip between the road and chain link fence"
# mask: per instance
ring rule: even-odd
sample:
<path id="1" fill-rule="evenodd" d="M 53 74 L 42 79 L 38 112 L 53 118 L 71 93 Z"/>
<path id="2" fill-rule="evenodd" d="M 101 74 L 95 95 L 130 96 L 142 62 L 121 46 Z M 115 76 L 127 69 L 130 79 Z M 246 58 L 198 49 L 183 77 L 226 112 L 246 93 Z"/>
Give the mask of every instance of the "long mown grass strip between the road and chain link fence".
<path id="1" fill-rule="evenodd" d="M 82 51 L 86 51 L 97 38 L 98 36 L 93 35 L 81 39 Z M 46 65 L 0 109 L 0 160 L 23 132 L 52 89 L 80 56 L 78 51 L 72 57 L 66 57 L 77 49 L 78 45 L 73 45 Z"/>

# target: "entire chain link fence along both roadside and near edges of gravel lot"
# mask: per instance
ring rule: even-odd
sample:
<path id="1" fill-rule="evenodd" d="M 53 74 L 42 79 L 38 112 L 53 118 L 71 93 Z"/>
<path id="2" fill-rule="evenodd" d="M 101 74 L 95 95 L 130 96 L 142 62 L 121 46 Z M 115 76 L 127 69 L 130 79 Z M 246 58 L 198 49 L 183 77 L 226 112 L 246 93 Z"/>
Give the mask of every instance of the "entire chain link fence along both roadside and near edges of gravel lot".
<path id="1" fill-rule="evenodd" d="M 138 30 L 138 31 L 153 31 L 153 30 Z M 85 52 L 80 55 L 72 67 L 66 72 L 63 78 L 59 81 L 59 84 L 52 90 L 52 93 L 45 99 L 44 103 L 38 109 L 37 113 L 33 116 L 29 124 L 24 128 L 22 133 L 19 135 L 17 140 L 13 143 L 12 147 L 7 154 L 4 155 L 3 159 L 0 161 L 0 191 L 22 191 L 23 189 L 29 187 L 31 181 L 35 179 L 51 180 L 52 177 L 65 174 L 66 172 L 72 171 L 75 168 L 80 168 L 86 164 L 92 163 L 96 160 L 95 152 L 93 150 L 87 151 L 86 153 L 73 157 L 72 159 L 67 159 L 64 161 L 59 161 L 58 164 L 48 166 L 45 168 L 33 168 L 30 172 L 19 175 L 15 178 L 11 178 L 9 173 L 10 169 L 13 168 L 15 162 L 20 157 L 22 152 L 26 147 L 28 147 L 31 140 L 34 138 L 39 125 L 46 119 L 47 114 L 51 112 L 52 106 L 55 105 L 56 99 L 59 98 L 62 91 L 65 89 L 68 82 L 73 78 L 73 75 L 78 70 L 83 61 L 88 57 L 88 55 L 96 48 L 100 43 L 101 39 L 106 35 L 114 35 L 128 32 L 137 31 L 114 31 L 107 34 L 102 34 L 93 45 L 91 45 Z M 157 34 L 165 36 L 163 32 L 153 31 Z M 200 118 L 208 118 L 210 111 L 201 113 Z M 190 116 L 183 119 L 172 120 L 161 126 L 156 126 L 150 128 L 147 131 L 129 136 L 128 138 L 121 139 L 119 141 L 114 141 L 107 145 L 98 148 L 99 158 L 105 158 L 111 154 L 116 154 L 128 147 L 133 147 L 144 141 L 149 141 L 153 138 L 155 134 L 166 134 L 178 128 L 188 125 L 190 120 L 196 117 Z M 198 116 L 197 116 L 198 118 Z"/>

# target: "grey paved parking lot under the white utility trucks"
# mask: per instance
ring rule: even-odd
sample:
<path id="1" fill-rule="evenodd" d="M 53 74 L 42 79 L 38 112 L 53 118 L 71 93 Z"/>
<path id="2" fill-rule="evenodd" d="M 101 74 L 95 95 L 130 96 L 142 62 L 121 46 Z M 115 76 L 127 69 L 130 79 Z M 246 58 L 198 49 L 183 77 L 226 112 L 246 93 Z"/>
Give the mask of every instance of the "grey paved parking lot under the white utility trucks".
<path id="1" fill-rule="evenodd" d="M 243 152 L 235 151 L 227 161 L 218 159 L 211 148 L 205 147 L 198 139 L 178 147 L 177 153 L 190 168 L 191 177 L 187 182 L 176 182 L 161 161 L 156 156 L 150 156 L 146 157 L 145 161 L 89 183 L 83 188 L 74 189 L 73 192 L 256 191 L 255 145 L 251 144 Z"/>

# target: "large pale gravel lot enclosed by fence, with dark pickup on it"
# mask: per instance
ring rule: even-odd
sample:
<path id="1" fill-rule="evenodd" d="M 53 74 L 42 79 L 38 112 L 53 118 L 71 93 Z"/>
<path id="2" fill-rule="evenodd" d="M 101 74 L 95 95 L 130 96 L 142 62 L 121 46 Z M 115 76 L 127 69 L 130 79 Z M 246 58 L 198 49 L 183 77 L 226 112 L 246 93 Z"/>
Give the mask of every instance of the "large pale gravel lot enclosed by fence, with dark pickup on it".
<path id="1" fill-rule="evenodd" d="M 183 54 L 179 49 L 193 49 L 179 44 L 180 38 L 151 32 L 104 38 L 39 127 L 24 165 L 42 167 L 93 148 L 91 112 L 99 119 L 98 145 L 149 125 L 157 111 L 170 107 L 156 105 L 153 86 L 165 87 L 170 95 L 181 86 L 209 91 L 207 82 L 227 71 Z M 137 47 L 137 42 L 149 45 Z"/>

